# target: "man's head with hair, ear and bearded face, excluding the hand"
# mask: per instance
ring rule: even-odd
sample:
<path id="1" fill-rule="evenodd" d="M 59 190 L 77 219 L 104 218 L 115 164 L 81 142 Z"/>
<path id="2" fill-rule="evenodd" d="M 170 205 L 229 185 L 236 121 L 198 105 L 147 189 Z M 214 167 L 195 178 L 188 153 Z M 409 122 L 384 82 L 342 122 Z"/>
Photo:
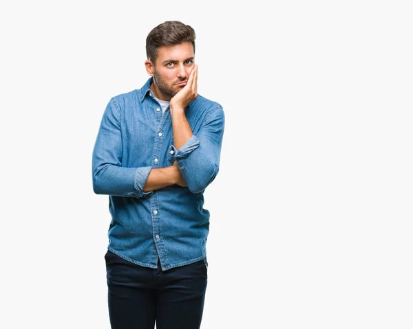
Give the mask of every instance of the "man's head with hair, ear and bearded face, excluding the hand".
<path id="1" fill-rule="evenodd" d="M 145 67 L 154 82 L 151 90 L 156 98 L 170 100 L 195 65 L 195 31 L 179 21 L 167 21 L 149 32 L 146 50 Z"/>

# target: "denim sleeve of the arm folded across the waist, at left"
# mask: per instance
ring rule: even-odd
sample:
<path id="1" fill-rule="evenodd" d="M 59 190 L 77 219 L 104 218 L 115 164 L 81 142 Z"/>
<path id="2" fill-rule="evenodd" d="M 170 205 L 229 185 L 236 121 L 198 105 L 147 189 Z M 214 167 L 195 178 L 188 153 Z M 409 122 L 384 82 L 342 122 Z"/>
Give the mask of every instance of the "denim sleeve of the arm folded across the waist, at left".
<path id="1" fill-rule="evenodd" d="M 112 98 L 100 122 L 92 155 L 93 190 L 96 194 L 113 196 L 149 197 L 153 191 L 143 192 L 151 167 L 122 167 L 122 136 L 120 109 Z"/>

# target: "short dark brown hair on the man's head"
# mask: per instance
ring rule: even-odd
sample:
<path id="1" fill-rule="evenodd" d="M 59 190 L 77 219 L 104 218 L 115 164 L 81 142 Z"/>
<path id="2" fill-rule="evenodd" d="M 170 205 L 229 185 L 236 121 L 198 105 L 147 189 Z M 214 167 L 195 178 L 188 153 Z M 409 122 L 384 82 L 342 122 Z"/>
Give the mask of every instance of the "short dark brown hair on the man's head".
<path id="1" fill-rule="evenodd" d="M 147 58 L 155 64 L 158 56 L 158 48 L 165 45 L 179 45 L 190 42 L 195 54 L 195 31 L 189 25 L 180 21 L 166 21 L 154 27 L 147 36 L 146 50 Z"/>

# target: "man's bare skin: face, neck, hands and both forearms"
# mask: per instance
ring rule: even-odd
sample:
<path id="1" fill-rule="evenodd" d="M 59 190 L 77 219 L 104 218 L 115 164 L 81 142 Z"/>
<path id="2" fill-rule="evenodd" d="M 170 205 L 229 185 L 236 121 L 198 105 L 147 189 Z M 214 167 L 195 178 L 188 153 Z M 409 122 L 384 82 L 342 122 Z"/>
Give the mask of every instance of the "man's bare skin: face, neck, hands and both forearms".
<path id="1" fill-rule="evenodd" d="M 184 110 L 198 96 L 198 65 L 195 65 L 192 43 L 159 47 L 155 62 L 146 60 L 145 67 L 153 77 L 150 87 L 153 95 L 170 101 L 173 140 L 179 150 L 193 135 Z M 176 161 L 173 166 L 153 168 L 143 190 L 157 190 L 172 184 L 187 186 Z"/>

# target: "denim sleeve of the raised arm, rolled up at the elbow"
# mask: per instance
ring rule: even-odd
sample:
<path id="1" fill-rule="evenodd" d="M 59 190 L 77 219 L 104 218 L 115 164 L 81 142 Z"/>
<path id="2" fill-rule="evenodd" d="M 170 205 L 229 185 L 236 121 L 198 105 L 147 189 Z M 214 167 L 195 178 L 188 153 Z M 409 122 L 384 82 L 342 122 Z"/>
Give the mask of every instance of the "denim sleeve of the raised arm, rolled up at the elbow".
<path id="1" fill-rule="evenodd" d="M 192 193 L 204 191 L 218 174 L 224 124 L 224 110 L 220 107 L 205 117 L 197 135 L 192 135 L 179 150 L 173 146 L 182 177 Z"/>

